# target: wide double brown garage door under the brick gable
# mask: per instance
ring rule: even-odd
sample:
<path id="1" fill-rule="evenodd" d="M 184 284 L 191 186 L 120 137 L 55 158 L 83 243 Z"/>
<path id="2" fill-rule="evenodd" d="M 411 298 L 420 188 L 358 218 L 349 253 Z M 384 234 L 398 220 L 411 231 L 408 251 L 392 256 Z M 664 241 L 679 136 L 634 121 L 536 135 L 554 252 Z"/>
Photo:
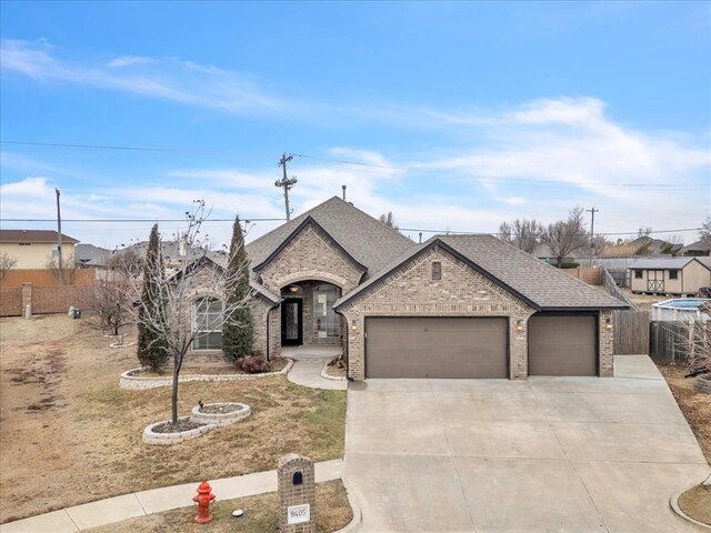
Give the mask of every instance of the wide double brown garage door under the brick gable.
<path id="1" fill-rule="evenodd" d="M 507 319 L 365 320 L 367 378 L 508 378 Z"/>

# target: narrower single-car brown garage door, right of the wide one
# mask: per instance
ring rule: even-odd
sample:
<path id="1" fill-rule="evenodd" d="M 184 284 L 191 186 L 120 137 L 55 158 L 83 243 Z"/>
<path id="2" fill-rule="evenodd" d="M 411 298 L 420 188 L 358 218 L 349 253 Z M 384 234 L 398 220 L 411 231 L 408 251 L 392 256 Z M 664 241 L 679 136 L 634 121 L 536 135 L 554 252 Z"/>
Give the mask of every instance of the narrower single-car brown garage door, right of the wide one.
<path id="1" fill-rule="evenodd" d="M 598 375 L 597 338 L 595 316 L 531 316 L 529 375 Z"/>

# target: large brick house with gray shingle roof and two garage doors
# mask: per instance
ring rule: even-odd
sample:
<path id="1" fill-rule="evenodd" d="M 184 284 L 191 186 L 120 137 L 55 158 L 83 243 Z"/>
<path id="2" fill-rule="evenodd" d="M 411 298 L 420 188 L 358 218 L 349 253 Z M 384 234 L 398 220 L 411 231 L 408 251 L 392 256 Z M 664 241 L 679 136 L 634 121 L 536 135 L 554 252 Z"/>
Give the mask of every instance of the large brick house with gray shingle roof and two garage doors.
<path id="1" fill-rule="evenodd" d="M 268 356 L 341 345 L 356 380 L 613 372 L 612 311 L 627 306 L 490 235 L 415 244 L 333 197 L 247 252 Z M 197 326 L 211 305 L 196 299 Z"/>

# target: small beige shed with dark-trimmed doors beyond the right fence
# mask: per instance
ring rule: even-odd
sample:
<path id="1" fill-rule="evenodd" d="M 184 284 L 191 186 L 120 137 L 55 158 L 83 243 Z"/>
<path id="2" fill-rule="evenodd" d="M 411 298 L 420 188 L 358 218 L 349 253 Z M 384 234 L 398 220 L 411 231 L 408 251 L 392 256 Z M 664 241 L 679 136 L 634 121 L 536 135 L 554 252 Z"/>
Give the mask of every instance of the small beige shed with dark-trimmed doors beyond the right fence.
<path id="1" fill-rule="evenodd" d="M 628 271 L 637 293 L 693 295 L 711 285 L 711 268 L 699 258 L 639 259 Z"/>

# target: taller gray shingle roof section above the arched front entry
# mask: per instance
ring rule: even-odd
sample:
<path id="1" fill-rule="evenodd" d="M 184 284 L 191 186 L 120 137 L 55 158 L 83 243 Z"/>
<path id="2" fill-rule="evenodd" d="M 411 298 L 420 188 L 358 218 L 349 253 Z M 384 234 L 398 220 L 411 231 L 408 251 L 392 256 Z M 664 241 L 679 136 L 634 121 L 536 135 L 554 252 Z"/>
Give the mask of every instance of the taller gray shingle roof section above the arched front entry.
<path id="1" fill-rule="evenodd" d="M 262 263 L 311 217 L 356 261 L 377 272 L 415 244 L 352 204 L 333 197 L 247 244 L 252 266 Z"/>

